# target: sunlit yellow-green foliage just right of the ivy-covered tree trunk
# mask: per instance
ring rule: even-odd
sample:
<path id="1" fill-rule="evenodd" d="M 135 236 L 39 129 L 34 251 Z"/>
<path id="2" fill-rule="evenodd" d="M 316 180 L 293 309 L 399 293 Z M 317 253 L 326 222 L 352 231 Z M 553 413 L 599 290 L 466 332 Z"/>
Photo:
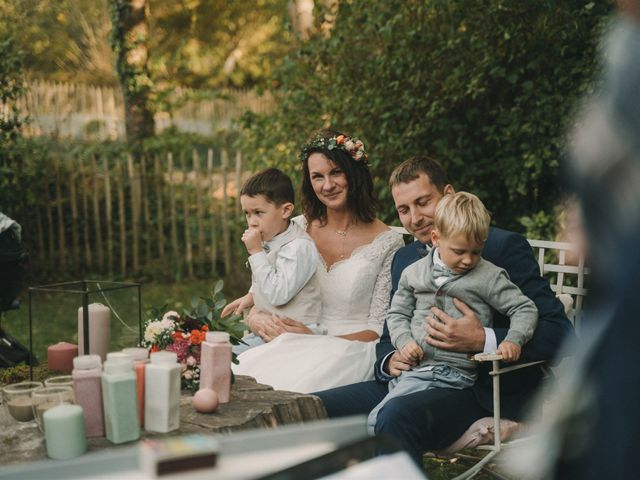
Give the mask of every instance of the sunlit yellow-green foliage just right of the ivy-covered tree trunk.
<path id="1" fill-rule="evenodd" d="M 251 86 L 288 48 L 287 0 L 154 0 L 151 68 L 162 85 Z"/>

